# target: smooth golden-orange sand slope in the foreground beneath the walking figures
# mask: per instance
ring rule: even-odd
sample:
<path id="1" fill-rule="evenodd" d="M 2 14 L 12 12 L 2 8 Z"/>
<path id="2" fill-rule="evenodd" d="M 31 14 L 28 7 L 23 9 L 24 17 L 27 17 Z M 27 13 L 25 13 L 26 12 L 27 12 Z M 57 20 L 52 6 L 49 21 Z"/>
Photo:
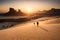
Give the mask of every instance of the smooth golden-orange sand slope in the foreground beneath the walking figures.
<path id="1" fill-rule="evenodd" d="M 39 21 L 39 26 L 33 23 L 0 30 L 0 40 L 60 40 L 60 23 L 46 24 Z"/>

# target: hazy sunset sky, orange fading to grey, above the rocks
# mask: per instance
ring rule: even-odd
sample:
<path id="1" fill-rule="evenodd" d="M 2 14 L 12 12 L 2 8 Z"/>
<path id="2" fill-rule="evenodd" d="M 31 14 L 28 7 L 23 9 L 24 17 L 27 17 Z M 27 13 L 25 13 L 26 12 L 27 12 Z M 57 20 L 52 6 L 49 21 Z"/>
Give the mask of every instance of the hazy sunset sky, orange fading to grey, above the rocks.
<path id="1" fill-rule="evenodd" d="M 23 12 L 60 9 L 60 0 L 0 0 L 0 12 L 7 12 L 10 7 Z"/>

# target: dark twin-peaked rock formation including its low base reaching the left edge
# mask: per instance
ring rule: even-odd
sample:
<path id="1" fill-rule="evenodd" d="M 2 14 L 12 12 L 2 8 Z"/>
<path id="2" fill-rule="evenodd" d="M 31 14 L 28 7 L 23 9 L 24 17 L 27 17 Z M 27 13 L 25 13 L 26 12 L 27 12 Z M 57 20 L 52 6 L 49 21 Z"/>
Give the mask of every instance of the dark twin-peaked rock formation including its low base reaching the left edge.
<path id="1" fill-rule="evenodd" d="M 20 9 L 16 11 L 14 8 L 9 8 L 7 13 L 1 13 L 0 16 L 24 16 L 25 14 L 21 12 Z"/>

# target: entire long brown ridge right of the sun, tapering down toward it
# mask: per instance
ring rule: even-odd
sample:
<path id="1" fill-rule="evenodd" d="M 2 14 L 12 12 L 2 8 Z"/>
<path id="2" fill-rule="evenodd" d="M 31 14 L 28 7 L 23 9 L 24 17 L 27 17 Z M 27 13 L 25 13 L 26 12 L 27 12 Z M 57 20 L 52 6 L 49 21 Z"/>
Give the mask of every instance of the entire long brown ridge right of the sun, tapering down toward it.
<path id="1" fill-rule="evenodd" d="M 52 17 L 58 16 L 60 17 L 60 9 L 52 8 L 50 10 L 42 11 L 43 13 L 36 13 L 36 16 L 33 19 L 41 18 L 41 17 Z"/>

